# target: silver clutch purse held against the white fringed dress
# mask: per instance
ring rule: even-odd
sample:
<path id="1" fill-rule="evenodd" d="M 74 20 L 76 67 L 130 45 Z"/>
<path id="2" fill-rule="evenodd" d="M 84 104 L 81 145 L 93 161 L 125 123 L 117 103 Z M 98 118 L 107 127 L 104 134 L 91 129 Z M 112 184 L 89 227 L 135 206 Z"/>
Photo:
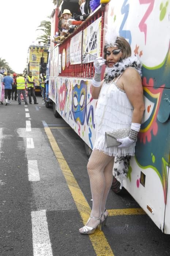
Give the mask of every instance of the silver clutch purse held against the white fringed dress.
<path id="1" fill-rule="evenodd" d="M 117 139 L 126 138 L 129 136 L 131 128 L 123 128 L 113 130 L 112 132 L 105 132 L 105 147 L 117 147 L 121 145 Z"/>

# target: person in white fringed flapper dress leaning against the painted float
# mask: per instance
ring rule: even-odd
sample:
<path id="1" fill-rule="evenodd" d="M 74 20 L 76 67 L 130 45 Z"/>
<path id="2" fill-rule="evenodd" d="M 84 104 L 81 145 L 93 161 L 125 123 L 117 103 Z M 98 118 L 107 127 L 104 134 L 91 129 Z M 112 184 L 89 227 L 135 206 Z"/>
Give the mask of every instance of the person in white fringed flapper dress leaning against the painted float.
<path id="1" fill-rule="evenodd" d="M 101 81 L 102 66 L 106 64 L 105 77 Z M 92 211 L 81 234 L 93 234 L 102 230 L 108 212 L 106 200 L 113 180 L 114 157 L 133 156 L 137 134 L 144 113 L 142 64 L 137 56 L 131 57 L 131 47 L 125 38 L 119 37 L 114 28 L 107 28 L 104 58 L 94 61 L 92 98 L 98 99 L 95 111 L 96 139 L 88 161 L 87 171 L 92 193 Z M 124 131 L 129 131 L 124 135 Z M 116 132 L 117 146 L 106 144 L 106 133 Z M 122 132 L 121 132 L 122 131 Z"/>

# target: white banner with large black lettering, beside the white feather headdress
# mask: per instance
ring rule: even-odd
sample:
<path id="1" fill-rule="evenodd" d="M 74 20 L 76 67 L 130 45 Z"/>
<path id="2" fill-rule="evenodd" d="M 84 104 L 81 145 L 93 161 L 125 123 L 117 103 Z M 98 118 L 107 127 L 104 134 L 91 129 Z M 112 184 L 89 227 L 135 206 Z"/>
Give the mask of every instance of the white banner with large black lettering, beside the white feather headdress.
<path id="1" fill-rule="evenodd" d="M 95 60 L 94 56 L 90 54 L 84 54 L 84 52 L 89 52 L 97 57 L 100 56 L 101 22 L 102 17 L 95 20 L 90 26 L 83 30 L 83 63 L 89 63 Z"/>

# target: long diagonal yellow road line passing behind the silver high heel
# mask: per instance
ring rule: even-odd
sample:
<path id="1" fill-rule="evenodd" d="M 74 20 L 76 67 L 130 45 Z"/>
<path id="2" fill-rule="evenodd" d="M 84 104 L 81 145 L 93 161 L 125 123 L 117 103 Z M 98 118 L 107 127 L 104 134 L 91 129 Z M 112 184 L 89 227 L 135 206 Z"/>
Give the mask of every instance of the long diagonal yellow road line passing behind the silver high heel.
<path id="1" fill-rule="evenodd" d="M 90 215 L 91 208 L 87 203 L 86 198 L 84 197 L 75 177 L 73 176 L 67 162 L 65 161 L 63 154 L 58 147 L 56 140 L 49 127 L 44 127 L 46 135 L 48 136 L 49 142 L 52 146 L 53 152 L 57 158 L 57 161 L 60 165 L 60 168 L 64 174 L 67 185 L 71 191 L 72 197 L 75 201 L 75 204 L 78 208 L 78 211 L 82 217 L 84 225 L 87 222 L 87 219 Z M 78 231 L 79 232 L 79 231 Z M 92 246 L 94 247 L 95 253 L 97 256 L 113 256 L 112 249 L 110 248 L 109 243 L 106 240 L 106 237 L 102 231 L 96 230 L 94 234 L 89 236 Z"/>

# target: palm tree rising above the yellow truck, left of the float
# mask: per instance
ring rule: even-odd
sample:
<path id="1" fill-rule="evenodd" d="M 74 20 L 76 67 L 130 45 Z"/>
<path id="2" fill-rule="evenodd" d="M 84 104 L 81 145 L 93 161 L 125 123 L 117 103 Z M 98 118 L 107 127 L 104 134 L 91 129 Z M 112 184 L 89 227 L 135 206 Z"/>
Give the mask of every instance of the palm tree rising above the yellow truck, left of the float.
<path id="1" fill-rule="evenodd" d="M 49 16 L 47 18 L 50 19 Z M 37 30 L 41 30 L 43 35 L 37 37 L 37 40 L 44 44 L 48 44 L 48 38 L 51 34 L 51 20 L 43 20 L 38 27 L 40 28 Z"/>

